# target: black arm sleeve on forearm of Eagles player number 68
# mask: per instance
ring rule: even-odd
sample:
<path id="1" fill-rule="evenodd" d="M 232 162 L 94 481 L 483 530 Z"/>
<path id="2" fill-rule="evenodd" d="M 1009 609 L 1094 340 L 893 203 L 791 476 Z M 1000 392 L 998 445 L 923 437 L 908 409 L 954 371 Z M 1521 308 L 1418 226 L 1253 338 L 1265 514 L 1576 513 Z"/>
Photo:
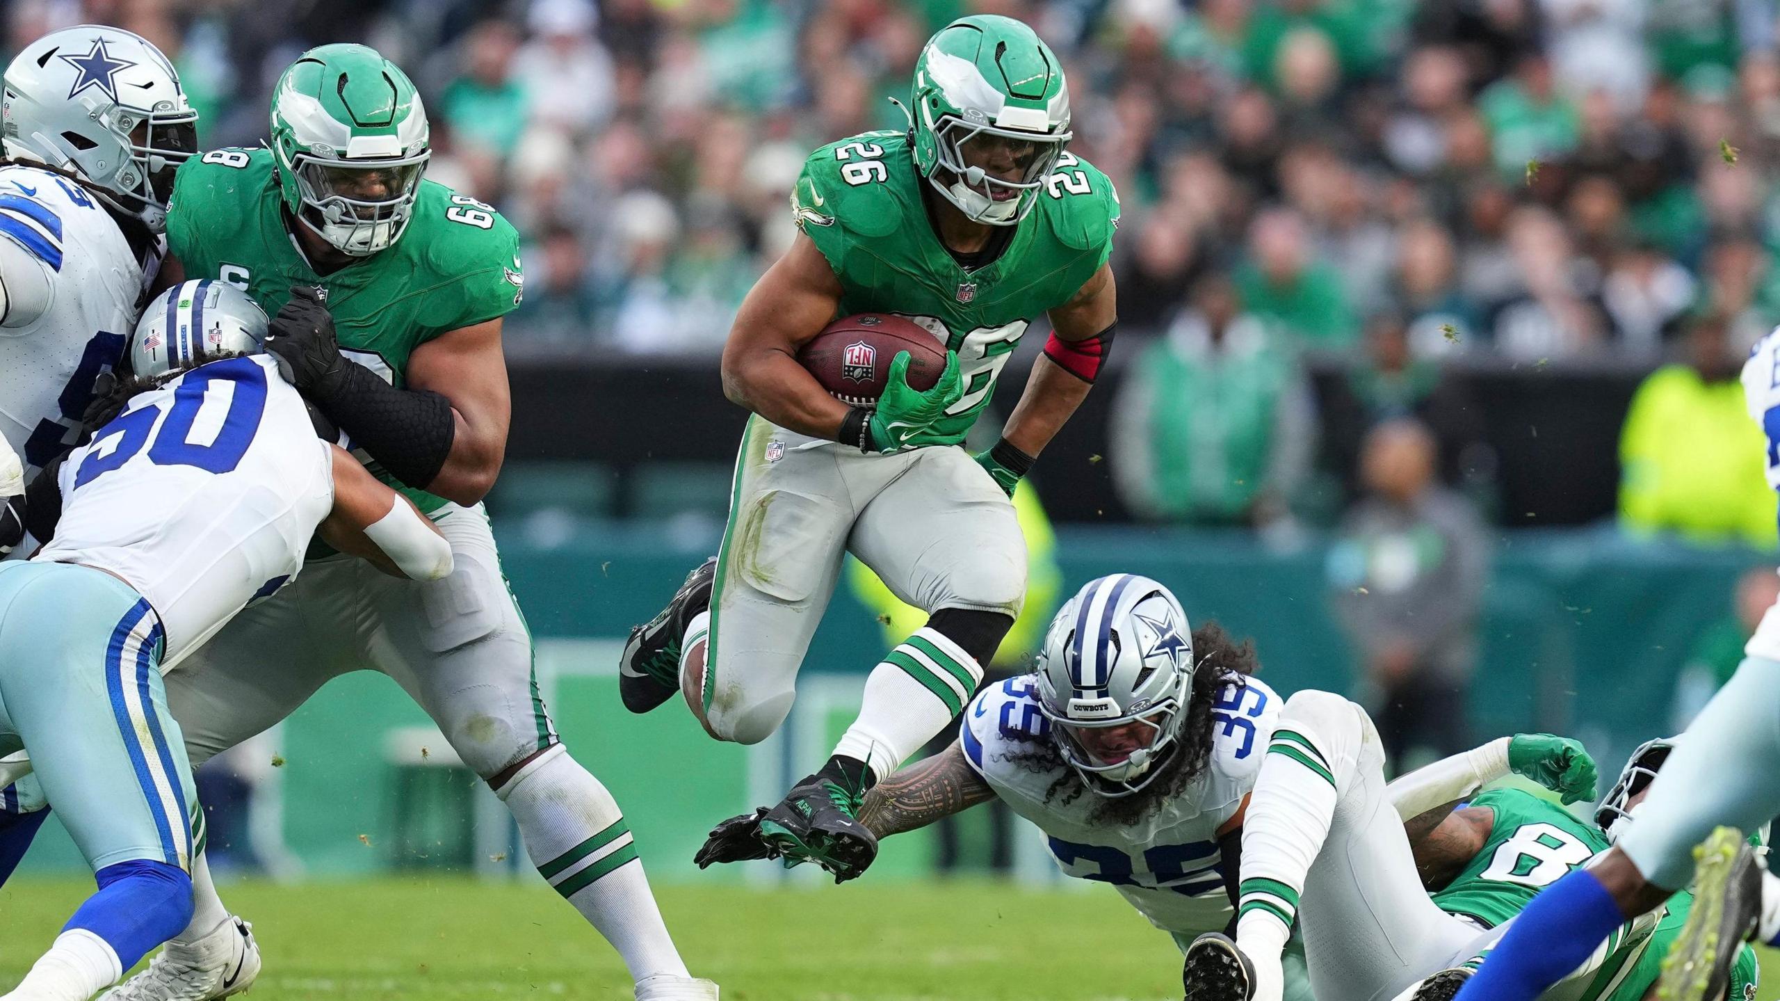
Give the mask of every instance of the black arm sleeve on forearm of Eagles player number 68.
<path id="1" fill-rule="evenodd" d="M 340 388 L 313 403 L 395 479 L 420 490 L 445 468 L 457 436 L 449 399 L 431 390 L 399 390 L 356 363 L 347 363 Z"/>

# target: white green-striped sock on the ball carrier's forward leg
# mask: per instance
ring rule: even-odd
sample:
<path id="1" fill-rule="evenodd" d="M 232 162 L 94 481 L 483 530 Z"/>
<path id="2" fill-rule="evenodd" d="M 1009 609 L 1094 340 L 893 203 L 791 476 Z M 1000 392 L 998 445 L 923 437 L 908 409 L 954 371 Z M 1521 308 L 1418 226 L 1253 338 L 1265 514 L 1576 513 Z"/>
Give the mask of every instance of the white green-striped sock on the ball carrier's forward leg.
<path id="1" fill-rule="evenodd" d="M 867 762 L 883 778 L 943 730 L 981 680 L 975 657 L 936 629 L 918 629 L 872 668 L 860 718 L 835 753 Z"/>

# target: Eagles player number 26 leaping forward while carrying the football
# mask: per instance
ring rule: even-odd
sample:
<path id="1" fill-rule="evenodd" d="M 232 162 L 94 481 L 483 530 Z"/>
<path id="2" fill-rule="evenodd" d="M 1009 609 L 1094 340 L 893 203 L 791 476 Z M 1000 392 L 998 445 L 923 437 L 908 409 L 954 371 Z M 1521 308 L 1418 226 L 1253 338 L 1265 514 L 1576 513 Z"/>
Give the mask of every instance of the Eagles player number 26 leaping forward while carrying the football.
<path id="1" fill-rule="evenodd" d="M 833 757 L 776 807 L 724 821 L 708 860 L 781 855 L 837 878 L 870 864 L 860 800 L 958 714 L 1013 625 L 1025 545 L 1007 495 L 1112 342 L 1118 198 L 1064 151 L 1057 55 L 1011 18 L 961 18 L 927 41 L 910 100 L 906 134 L 822 146 L 797 178 L 801 233 L 723 353 L 724 392 L 753 411 L 723 545 L 632 631 L 625 705 L 646 712 L 682 691 L 710 736 L 765 739 L 790 711 L 847 552 L 927 625 L 872 670 Z M 829 395 L 797 349 L 860 312 L 927 328 L 949 353 L 940 381 L 910 388 L 899 356 L 876 408 Z M 1052 337 L 1000 442 L 967 454 L 965 431 L 1041 315 Z"/>

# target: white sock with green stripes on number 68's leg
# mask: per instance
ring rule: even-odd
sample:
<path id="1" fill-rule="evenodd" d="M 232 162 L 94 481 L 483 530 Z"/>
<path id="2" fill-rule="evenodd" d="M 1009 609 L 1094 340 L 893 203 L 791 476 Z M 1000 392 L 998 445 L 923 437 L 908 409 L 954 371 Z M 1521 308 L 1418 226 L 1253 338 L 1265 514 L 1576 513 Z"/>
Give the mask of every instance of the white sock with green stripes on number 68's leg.
<path id="1" fill-rule="evenodd" d="M 538 875 L 605 935 L 632 980 L 687 976 L 625 814 L 568 748 L 557 745 L 538 755 L 495 794 L 520 823 Z"/>

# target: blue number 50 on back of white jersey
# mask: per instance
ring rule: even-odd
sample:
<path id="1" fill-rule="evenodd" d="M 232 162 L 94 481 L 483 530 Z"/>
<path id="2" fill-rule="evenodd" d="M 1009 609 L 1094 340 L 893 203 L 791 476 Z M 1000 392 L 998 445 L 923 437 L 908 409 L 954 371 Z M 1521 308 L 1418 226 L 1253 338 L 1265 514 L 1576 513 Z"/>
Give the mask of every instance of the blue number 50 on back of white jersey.
<path id="1" fill-rule="evenodd" d="M 205 406 L 205 394 L 210 392 L 210 383 L 219 381 L 235 383 L 222 427 L 208 445 L 189 442 L 192 424 Z M 233 470 L 247 454 L 247 445 L 253 444 L 260 417 L 265 413 L 265 369 L 246 358 L 196 369 L 173 390 L 167 419 L 155 431 L 155 419 L 160 413 L 158 406 L 144 406 L 107 424 L 93 438 L 93 449 L 75 472 L 75 490 L 130 461 L 142 445 L 148 445 L 148 461 L 155 465 L 189 465 L 206 472 Z M 107 442 L 112 442 L 110 447 Z"/>

